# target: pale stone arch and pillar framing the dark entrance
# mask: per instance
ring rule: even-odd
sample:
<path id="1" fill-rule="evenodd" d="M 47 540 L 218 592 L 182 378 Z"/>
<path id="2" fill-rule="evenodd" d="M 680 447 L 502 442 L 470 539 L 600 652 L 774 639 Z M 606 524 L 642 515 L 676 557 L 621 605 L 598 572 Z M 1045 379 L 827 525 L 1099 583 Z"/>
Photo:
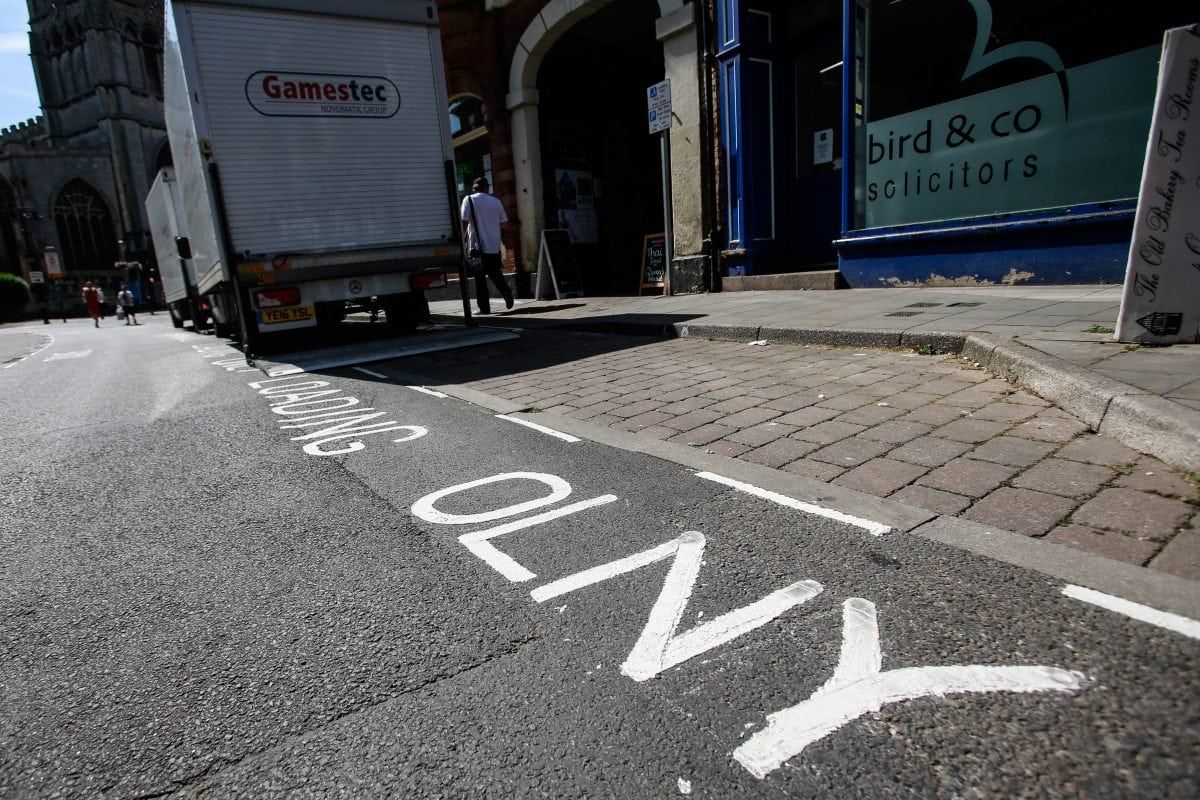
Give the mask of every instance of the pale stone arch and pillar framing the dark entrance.
<path id="1" fill-rule="evenodd" d="M 524 269 L 534 271 L 538 267 L 538 249 L 541 230 L 545 228 L 545 204 L 541 173 L 541 140 L 538 116 L 538 71 L 541 68 L 542 59 L 562 38 L 562 36 L 580 23 L 590 17 L 613 0 L 551 0 L 533 18 L 526 28 L 517 43 L 512 62 L 509 68 L 509 92 L 505 96 L 505 106 L 510 112 L 510 125 L 512 131 L 512 162 L 516 173 L 517 216 L 521 221 L 521 258 Z M 648 2 L 650 0 L 647 0 Z M 667 77 L 672 79 L 672 97 L 679 96 L 685 100 L 685 108 L 691 109 L 695 119 L 684 119 L 682 127 L 698 125 L 698 76 L 695 37 L 680 36 L 685 31 L 692 30 L 692 5 L 685 0 L 656 0 L 659 6 L 658 38 L 662 42 L 664 59 L 667 64 Z M 684 44 L 672 48 L 667 40 L 683 40 Z M 678 50 L 678 52 L 673 52 Z M 679 58 L 679 52 L 684 58 Z M 688 61 L 690 60 L 690 64 Z M 686 113 L 686 112 L 685 112 Z M 698 148 L 698 138 L 691 137 L 691 142 Z M 676 133 L 671 137 L 672 158 L 676 155 Z M 680 143 L 682 144 L 682 143 Z M 685 163 L 698 163 L 698 152 L 695 157 L 685 156 Z M 672 181 L 673 187 L 676 181 Z M 695 186 L 698 181 L 691 180 Z M 673 192 L 674 193 L 674 192 Z M 698 196 L 694 204 L 696 229 L 696 252 L 700 243 L 700 200 Z M 678 230 L 679 224 L 674 225 Z M 678 235 L 677 235 L 678 239 Z M 677 246 L 677 252 L 678 246 Z"/>

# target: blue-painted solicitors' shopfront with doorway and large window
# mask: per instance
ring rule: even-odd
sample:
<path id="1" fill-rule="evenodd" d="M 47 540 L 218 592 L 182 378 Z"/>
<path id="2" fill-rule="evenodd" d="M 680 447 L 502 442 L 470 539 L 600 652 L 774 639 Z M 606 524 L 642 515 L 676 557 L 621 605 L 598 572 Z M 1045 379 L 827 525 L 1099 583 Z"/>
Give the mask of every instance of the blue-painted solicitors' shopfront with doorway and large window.
<path id="1" fill-rule="evenodd" d="M 725 275 L 1120 282 L 1192 2 L 714 0 Z"/>

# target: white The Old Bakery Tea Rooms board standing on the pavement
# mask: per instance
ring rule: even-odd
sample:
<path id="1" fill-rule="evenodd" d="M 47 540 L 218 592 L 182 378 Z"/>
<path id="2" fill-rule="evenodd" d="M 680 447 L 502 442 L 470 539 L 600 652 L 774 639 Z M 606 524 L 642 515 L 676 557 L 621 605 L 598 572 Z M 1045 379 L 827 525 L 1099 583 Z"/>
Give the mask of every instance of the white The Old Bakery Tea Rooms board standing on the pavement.
<path id="1" fill-rule="evenodd" d="M 1163 40 L 1120 342 L 1200 342 L 1200 25 Z"/>

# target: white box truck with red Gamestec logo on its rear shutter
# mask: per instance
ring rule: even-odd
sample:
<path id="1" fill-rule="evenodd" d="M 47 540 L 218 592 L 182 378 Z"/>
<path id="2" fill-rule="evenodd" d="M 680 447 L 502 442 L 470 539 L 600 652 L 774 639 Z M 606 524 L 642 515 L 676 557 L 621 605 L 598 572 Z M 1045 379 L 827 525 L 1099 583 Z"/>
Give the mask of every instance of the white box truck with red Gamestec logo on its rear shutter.
<path id="1" fill-rule="evenodd" d="M 382 307 L 461 264 L 434 0 L 173 0 L 167 131 L 218 333 Z"/>

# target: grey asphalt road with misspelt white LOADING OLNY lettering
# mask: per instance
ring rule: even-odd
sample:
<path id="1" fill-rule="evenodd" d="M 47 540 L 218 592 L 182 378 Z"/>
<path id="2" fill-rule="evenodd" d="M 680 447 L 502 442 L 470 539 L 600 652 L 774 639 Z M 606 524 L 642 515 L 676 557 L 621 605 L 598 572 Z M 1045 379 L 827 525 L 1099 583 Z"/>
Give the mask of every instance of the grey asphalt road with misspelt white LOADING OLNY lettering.
<path id="1" fill-rule="evenodd" d="M 0 796 L 1200 794 L 1196 639 L 143 321 L 0 332 Z"/>

